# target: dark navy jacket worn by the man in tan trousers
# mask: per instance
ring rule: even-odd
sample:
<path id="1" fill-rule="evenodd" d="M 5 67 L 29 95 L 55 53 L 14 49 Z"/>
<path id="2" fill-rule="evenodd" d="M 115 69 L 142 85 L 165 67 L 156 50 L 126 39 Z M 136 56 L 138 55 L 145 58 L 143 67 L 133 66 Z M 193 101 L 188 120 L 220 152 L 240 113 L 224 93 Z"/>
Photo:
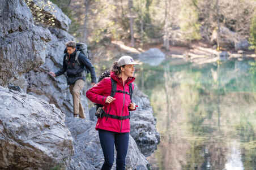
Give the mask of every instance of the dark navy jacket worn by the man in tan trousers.
<path id="1" fill-rule="evenodd" d="M 75 54 L 76 50 L 72 54 L 65 54 L 63 57 L 63 64 L 62 68 L 55 73 L 56 77 L 62 75 L 63 73 L 67 72 L 67 84 L 71 85 L 74 84 L 76 80 L 82 79 L 86 81 L 86 77 L 82 74 L 83 71 L 87 73 L 87 70 L 91 73 L 92 82 L 96 82 L 96 73 L 95 69 L 92 66 L 90 60 L 83 55 L 82 53 L 79 54 L 78 60 L 80 65 L 75 62 Z M 68 57 L 68 61 L 66 60 Z"/>

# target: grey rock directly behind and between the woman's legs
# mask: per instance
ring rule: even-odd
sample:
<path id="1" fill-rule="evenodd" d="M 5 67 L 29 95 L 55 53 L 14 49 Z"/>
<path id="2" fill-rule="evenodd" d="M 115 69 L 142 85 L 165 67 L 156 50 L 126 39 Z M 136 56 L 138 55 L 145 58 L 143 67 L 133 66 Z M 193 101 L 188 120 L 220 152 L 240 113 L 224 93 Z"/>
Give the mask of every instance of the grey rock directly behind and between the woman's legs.
<path id="1" fill-rule="evenodd" d="M 75 148 L 69 169 L 100 169 L 104 163 L 104 155 L 101 150 L 99 135 L 95 130 L 95 122 L 67 117 L 66 124 L 74 138 Z M 145 156 L 142 155 L 135 141 L 130 137 L 126 169 L 140 168 L 146 170 L 148 166 Z M 116 169 L 115 161 L 112 169 Z"/>

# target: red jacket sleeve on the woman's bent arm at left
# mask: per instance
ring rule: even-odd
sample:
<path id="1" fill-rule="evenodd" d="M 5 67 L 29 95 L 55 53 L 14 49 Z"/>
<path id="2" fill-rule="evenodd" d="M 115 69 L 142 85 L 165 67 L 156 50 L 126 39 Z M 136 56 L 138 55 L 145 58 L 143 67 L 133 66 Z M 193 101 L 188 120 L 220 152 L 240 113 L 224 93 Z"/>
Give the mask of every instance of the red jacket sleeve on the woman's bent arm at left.
<path id="1" fill-rule="evenodd" d="M 101 80 L 95 86 L 86 91 L 86 97 L 93 103 L 105 104 L 106 96 L 104 96 L 103 93 L 105 93 L 106 89 L 111 86 L 110 83 L 111 82 L 107 79 Z"/>

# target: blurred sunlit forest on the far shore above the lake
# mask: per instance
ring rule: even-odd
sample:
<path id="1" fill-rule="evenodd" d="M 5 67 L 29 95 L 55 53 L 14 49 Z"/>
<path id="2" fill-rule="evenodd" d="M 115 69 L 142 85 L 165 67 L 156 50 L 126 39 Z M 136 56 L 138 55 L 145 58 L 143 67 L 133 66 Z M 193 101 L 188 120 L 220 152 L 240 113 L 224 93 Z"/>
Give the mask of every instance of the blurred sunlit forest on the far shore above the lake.
<path id="1" fill-rule="evenodd" d="M 175 38 L 188 46 L 211 41 L 214 31 L 226 27 L 246 38 L 255 49 L 255 0 L 51 0 L 72 20 L 69 32 L 89 47 L 123 41 L 131 47 L 163 44 L 169 50 Z"/>

